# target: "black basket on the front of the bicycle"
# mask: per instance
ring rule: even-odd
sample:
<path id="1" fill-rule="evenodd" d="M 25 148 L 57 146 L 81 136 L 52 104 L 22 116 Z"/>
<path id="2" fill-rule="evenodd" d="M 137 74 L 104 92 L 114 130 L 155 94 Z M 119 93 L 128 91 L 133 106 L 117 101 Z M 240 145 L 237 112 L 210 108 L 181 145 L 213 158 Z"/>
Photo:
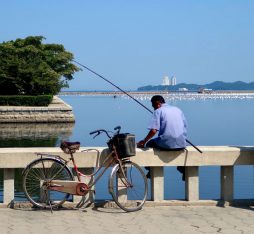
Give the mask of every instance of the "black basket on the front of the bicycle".
<path id="1" fill-rule="evenodd" d="M 119 158 L 126 158 L 136 155 L 135 135 L 120 133 L 113 137 L 112 143 L 116 147 Z"/>

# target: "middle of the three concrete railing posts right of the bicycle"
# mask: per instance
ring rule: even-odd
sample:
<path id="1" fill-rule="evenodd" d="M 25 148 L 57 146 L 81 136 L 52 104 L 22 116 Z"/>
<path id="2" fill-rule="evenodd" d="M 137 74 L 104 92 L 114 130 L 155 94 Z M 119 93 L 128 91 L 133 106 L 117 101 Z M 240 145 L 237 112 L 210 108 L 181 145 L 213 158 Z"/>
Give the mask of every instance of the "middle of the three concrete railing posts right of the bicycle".
<path id="1" fill-rule="evenodd" d="M 185 198 L 187 201 L 199 200 L 198 167 L 185 167 Z"/>

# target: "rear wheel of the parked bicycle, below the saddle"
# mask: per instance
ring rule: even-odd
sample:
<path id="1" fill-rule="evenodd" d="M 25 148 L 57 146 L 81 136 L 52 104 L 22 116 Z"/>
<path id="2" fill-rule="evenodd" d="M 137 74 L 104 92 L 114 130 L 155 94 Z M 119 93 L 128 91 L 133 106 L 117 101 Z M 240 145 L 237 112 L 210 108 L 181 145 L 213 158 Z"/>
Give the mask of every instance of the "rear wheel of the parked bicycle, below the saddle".
<path id="1" fill-rule="evenodd" d="M 70 169 L 59 159 L 45 157 L 31 162 L 23 172 L 23 190 L 28 200 L 39 208 L 57 208 L 70 196 L 47 189 L 45 181 L 74 180 Z"/>

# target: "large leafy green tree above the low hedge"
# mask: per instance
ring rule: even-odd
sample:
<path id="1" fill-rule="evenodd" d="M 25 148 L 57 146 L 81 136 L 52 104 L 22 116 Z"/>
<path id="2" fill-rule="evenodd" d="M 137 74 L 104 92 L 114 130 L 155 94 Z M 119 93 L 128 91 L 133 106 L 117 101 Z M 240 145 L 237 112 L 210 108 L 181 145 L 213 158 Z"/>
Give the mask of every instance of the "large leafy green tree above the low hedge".
<path id="1" fill-rule="evenodd" d="M 0 44 L 0 95 L 57 94 L 80 70 L 60 44 L 30 36 Z"/>

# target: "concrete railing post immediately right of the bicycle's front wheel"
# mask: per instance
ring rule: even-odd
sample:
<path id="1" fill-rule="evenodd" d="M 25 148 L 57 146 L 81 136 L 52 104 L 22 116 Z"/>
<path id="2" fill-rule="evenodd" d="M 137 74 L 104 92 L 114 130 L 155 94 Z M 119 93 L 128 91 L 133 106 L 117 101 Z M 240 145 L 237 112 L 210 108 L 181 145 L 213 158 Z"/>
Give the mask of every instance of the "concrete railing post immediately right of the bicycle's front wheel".
<path id="1" fill-rule="evenodd" d="M 151 193 L 153 201 L 164 200 L 163 167 L 151 167 Z"/>

